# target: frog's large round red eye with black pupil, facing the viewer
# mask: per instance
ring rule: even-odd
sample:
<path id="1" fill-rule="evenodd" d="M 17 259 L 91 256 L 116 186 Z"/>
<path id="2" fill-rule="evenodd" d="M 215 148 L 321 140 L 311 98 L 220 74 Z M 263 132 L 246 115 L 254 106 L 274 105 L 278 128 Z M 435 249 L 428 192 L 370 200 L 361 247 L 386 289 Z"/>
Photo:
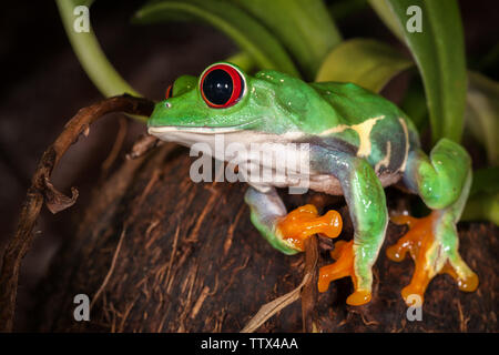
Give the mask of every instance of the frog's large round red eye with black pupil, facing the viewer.
<path id="1" fill-rule="evenodd" d="M 200 81 L 201 95 L 211 108 L 223 109 L 243 97 L 245 83 L 240 72 L 230 64 L 208 68 Z"/>

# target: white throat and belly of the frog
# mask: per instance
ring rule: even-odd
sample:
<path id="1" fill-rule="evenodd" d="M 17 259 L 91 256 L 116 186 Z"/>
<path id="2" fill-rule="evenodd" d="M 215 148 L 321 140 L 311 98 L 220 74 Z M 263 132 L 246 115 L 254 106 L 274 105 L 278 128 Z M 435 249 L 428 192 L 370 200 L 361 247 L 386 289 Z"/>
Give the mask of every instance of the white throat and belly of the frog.
<path id="1" fill-rule="evenodd" d="M 262 192 L 271 186 L 299 185 L 328 194 L 343 194 L 339 181 L 334 175 L 310 170 L 308 143 L 293 143 L 302 136 L 299 132 L 277 135 L 231 129 L 175 128 L 151 128 L 149 132 L 163 141 L 176 142 L 237 165 L 240 181 Z M 398 173 L 379 176 L 383 186 L 399 179 Z"/>

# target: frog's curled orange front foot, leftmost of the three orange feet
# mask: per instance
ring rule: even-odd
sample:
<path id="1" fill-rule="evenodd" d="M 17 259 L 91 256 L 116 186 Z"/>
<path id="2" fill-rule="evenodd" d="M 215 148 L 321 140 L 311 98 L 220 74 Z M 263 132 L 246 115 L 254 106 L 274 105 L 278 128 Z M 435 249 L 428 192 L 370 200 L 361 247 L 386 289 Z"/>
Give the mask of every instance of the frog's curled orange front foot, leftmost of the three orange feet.
<path id="1" fill-rule="evenodd" d="M 342 232 L 342 216 L 336 211 L 328 211 L 319 216 L 313 204 L 306 204 L 283 217 L 277 223 L 278 233 L 295 248 L 304 250 L 305 240 L 314 234 L 337 237 Z"/>

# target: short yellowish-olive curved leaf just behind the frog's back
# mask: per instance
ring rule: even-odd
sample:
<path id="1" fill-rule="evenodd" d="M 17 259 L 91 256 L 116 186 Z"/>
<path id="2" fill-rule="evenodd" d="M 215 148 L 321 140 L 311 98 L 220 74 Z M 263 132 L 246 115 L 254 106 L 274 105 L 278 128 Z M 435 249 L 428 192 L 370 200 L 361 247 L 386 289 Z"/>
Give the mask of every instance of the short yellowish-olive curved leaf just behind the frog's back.
<path id="1" fill-rule="evenodd" d="M 385 43 L 353 39 L 333 49 L 316 81 L 353 82 L 379 92 L 391 78 L 411 65 L 413 61 Z"/>

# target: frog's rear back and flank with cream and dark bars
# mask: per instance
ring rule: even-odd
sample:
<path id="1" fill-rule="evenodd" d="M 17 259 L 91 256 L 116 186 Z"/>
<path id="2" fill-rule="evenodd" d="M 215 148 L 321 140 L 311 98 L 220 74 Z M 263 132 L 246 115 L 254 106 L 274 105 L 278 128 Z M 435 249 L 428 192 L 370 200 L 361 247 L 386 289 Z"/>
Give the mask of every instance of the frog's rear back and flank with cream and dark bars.
<path id="1" fill-rule="evenodd" d="M 410 149 L 419 138 L 410 119 L 385 98 L 354 83 L 310 84 L 336 111 L 340 124 L 324 131 L 324 140 L 342 140 L 357 149 L 376 173 L 405 169 Z"/>

